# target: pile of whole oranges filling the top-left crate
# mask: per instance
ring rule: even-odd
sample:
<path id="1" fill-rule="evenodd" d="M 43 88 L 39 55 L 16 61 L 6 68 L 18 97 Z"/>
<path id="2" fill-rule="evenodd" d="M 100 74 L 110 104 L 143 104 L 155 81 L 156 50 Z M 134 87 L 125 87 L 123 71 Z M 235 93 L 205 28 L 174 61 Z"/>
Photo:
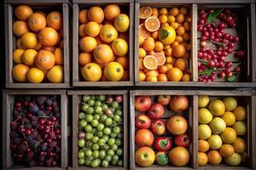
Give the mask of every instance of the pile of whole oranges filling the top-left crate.
<path id="1" fill-rule="evenodd" d="M 15 8 L 13 32 L 16 48 L 12 76 L 16 82 L 63 82 L 62 14 L 33 12 L 27 5 Z"/>

